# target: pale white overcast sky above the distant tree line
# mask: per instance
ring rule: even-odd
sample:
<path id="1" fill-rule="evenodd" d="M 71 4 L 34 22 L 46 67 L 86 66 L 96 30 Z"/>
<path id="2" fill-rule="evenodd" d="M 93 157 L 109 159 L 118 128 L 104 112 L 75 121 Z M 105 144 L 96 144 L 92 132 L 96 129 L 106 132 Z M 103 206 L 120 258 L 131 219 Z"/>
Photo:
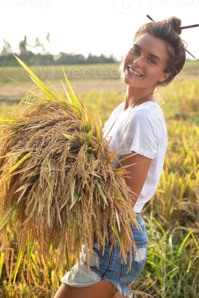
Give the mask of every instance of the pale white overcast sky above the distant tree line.
<path id="1" fill-rule="evenodd" d="M 0 51 L 3 40 L 19 54 L 19 41 L 35 44 L 36 37 L 54 55 L 59 52 L 88 57 L 111 54 L 119 61 L 134 33 L 150 22 L 176 16 L 181 26 L 199 23 L 199 0 L 0 0 Z M 50 33 L 50 43 L 47 42 Z M 183 29 L 185 47 L 199 59 L 199 27 Z M 33 50 L 37 53 L 41 50 Z M 194 58 L 186 52 L 187 58 Z"/>

